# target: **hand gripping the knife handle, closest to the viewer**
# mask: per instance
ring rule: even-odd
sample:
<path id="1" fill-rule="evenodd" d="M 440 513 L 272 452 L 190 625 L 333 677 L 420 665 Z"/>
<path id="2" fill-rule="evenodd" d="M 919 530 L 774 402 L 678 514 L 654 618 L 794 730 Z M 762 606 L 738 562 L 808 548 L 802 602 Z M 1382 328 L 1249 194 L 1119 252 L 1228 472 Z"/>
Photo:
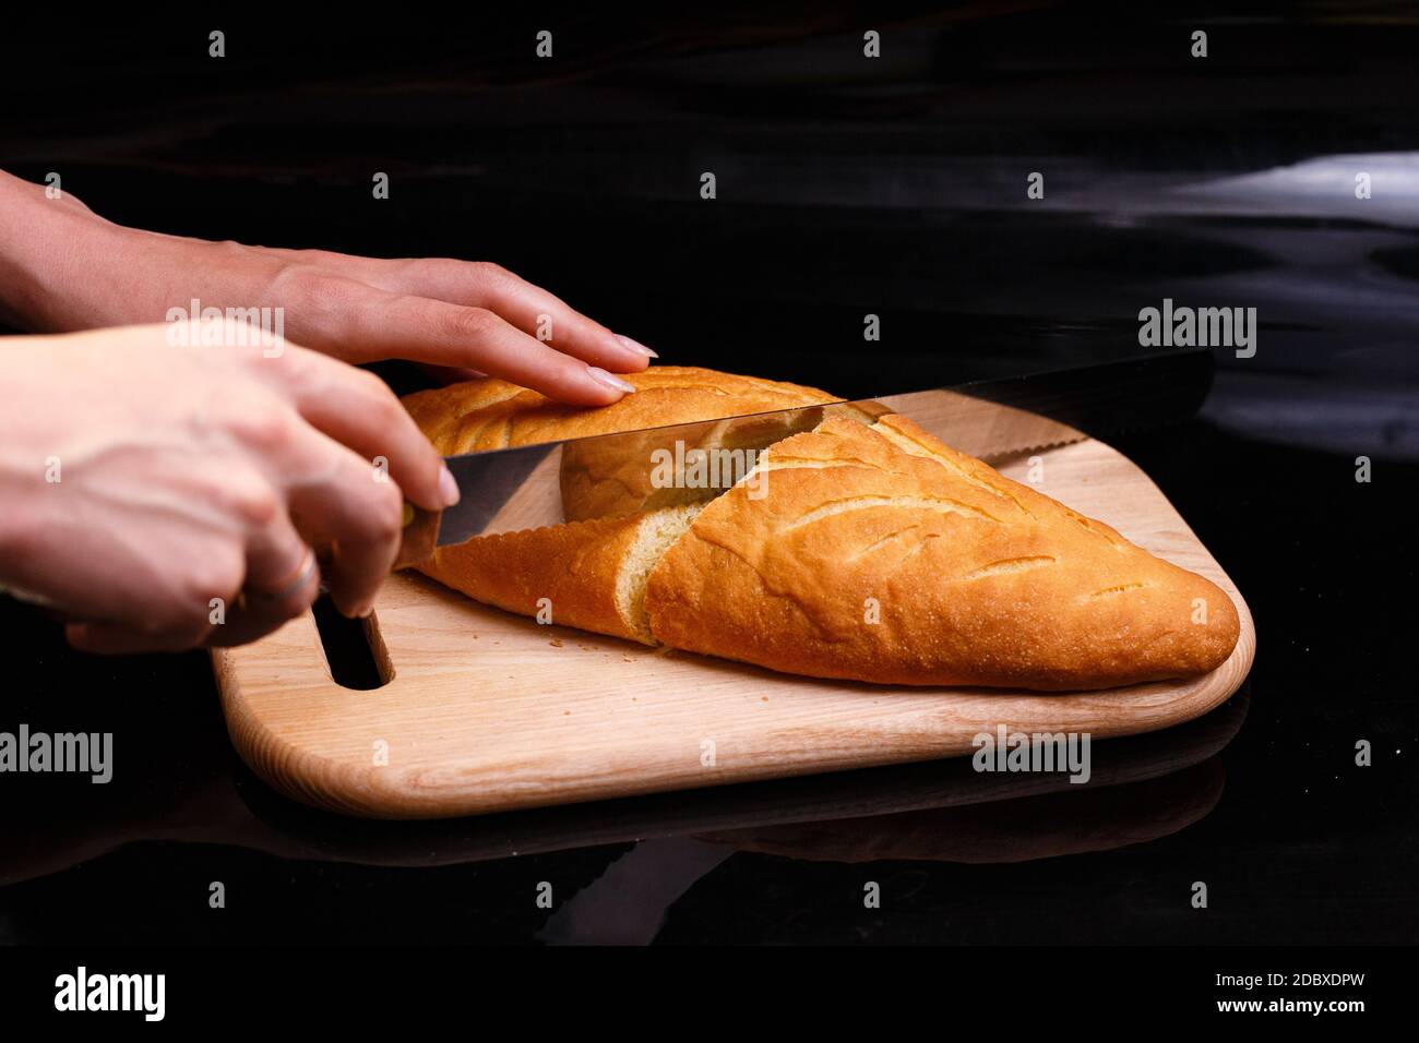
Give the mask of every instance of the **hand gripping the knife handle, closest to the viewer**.
<path id="1" fill-rule="evenodd" d="M 255 640 L 321 569 L 366 614 L 404 500 L 458 498 L 438 454 L 370 373 L 234 322 L 169 333 L 0 338 L 0 585 L 106 653 Z"/>

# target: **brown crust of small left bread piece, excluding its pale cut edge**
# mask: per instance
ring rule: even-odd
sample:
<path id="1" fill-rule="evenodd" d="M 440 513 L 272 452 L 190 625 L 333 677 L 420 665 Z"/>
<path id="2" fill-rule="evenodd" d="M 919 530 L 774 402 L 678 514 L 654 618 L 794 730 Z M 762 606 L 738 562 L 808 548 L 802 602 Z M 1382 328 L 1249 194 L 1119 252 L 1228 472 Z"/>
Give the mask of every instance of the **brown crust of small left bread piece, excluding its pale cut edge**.
<path id="1" fill-rule="evenodd" d="M 654 644 L 643 626 L 622 616 L 616 599 L 640 525 L 640 518 L 604 518 L 478 536 L 438 548 L 419 570 L 508 612 L 536 616 L 548 607 L 552 623 Z"/>

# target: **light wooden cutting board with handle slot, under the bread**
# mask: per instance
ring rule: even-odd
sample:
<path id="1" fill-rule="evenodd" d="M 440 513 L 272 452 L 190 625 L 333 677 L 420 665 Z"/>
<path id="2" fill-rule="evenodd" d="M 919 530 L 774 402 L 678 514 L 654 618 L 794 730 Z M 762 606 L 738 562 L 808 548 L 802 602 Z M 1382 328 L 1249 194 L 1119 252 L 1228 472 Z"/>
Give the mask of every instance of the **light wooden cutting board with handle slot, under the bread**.
<path id="1" fill-rule="evenodd" d="M 1226 663 L 1189 681 L 1083 694 L 817 681 L 539 626 L 400 573 L 369 627 L 387 684 L 336 684 L 308 614 L 213 653 L 227 727 L 253 771 L 292 798 L 433 819 L 959 756 L 1000 724 L 1132 735 L 1223 702 L 1256 650 L 1236 586 L 1114 448 L 1087 440 L 1039 456 L 1042 492 L 1232 596 L 1242 637 Z M 1025 481 L 1029 463 L 996 467 Z"/>

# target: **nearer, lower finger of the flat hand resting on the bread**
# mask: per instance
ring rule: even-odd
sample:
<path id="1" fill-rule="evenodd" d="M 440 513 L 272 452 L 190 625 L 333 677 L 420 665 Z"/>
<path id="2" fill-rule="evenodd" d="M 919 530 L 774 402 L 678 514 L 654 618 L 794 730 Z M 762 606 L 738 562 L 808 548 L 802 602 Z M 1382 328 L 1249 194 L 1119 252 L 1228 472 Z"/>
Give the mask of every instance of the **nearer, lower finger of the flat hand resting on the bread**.
<path id="1" fill-rule="evenodd" d="M 301 308 L 305 318 L 299 325 L 292 318 L 292 336 L 338 358 L 402 358 L 478 369 L 575 406 L 609 406 L 636 390 L 604 369 L 514 329 L 485 308 L 393 294 L 335 277 L 302 285 L 308 307 Z"/>

